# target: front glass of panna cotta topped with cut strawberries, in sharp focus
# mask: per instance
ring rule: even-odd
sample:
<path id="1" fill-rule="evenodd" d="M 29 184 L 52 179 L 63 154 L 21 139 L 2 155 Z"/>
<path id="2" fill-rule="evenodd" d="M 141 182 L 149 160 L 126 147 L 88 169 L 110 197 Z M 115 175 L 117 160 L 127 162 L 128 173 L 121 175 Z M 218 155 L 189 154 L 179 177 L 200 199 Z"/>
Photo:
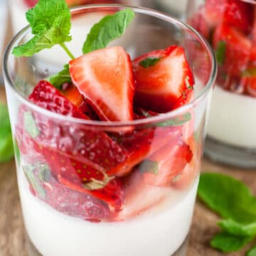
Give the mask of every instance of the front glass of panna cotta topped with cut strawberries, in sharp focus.
<path id="1" fill-rule="evenodd" d="M 6 49 L 23 218 L 42 255 L 174 255 L 188 235 L 215 58 L 186 24 L 127 8 L 72 10 L 85 26 L 99 13 L 129 10 L 135 18 L 107 48 L 69 60 L 70 81 L 58 86 L 48 81 L 54 62 L 43 59 L 45 70 L 38 64 L 44 50 L 11 54 L 31 39 L 29 27 Z M 193 48 L 201 50 L 203 67 Z M 65 51 L 62 57 L 64 65 Z"/>

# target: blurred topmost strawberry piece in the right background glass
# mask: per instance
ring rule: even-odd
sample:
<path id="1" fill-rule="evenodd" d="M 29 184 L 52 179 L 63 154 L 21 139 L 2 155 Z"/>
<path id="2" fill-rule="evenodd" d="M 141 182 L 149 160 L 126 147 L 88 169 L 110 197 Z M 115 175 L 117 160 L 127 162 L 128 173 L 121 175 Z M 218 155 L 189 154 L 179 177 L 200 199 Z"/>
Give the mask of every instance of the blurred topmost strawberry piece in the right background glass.
<path id="1" fill-rule="evenodd" d="M 245 1 L 207 0 L 204 14 L 206 23 L 212 28 L 225 23 L 248 33 L 252 27 L 252 6 Z"/>

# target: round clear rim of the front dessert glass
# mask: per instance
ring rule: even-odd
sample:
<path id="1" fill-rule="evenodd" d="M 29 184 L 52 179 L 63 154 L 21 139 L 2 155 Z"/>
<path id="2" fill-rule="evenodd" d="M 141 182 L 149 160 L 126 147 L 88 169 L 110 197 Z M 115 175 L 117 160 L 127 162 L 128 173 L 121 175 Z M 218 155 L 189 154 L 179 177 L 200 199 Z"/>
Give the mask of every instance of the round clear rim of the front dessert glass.
<path id="1" fill-rule="evenodd" d="M 95 11 L 96 9 L 132 9 L 135 13 L 139 14 L 146 14 L 148 16 L 153 16 L 154 18 L 159 18 L 162 21 L 166 21 L 169 23 L 175 23 L 178 25 L 179 28 L 185 28 L 188 31 L 191 31 L 193 36 L 196 36 L 198 38 L 198 41 L 201 41 L 202 45 L 206 48 L 208 55 L 209 55 L 209 61 L 212 63 L 210 75 L 208 82 L 206 82 L 206 85 L 203 87 L 203 90 L 195 97 L 191 102 L 188 102 L 186 105 L 183 105 L 181 107 L 178 107 L 176 110 L 171 110 L 170 112 L 166 112 L 163 114 L 159 114 L 158 116 L 154 117 L 146 117 L 144 119 L 137 119 L 132 121 L 95 121 L 95 120 L 87 120 L 87 119 L 80 119 L 76 117 L 69 117 L 65 116 L 63 114 L 58 114 L 55 112 L 51 112 L 50 110 L 46 110 L 43 107 L 39 107 L 38 105 L 35 105 L 33 102 L 26 99 L 26 97 L 23 97 L 18 90 L 14 87 L 14 82 L 11 79 L 11 75 L 9 73 L 9 69 L 7 67 L 7 63 L 9 61 L 11 50 L 14 48 L 16 43 L 23 38 L 23 36 L 29 32 L 30 26 L 27 25 L 24 28 L 21 29 L 16 35 L 11 39 L 8 46 L 6 47 L 6 50 L 4 52 L 3 57 L 3 74 L 4 74 L 4 80 L 5 80 L 5 86 L 11 88 L 11 90 L 14 92 L 16 97 L 18 97 L 18 100 L 23 102 L 23 104 L 30 107 L 32 110 L 36 110 L 36 112 L 41 112 L 42 114 L 46 116 L 50 116 L 65 122 L 74 122 L 78 124 L 86 124 L 89 126 L 95 126 L 95 127 L 110 127 L 110 128 L 116 128 L 116 127 L 129 127 L 129 126 L 139 126 L 139 125 L 146 125 L 146 124 L 155 124 L 159 122 L 165 122 L 166 120 L 169 120 L 171 118 L 175 118 L 184 112 L 188 112 L 191 110 L 191 108 L 194 107 L 194 105 L 197 105 L 198 102 L 201 102 L 204 97 L 210 92 L 210 89 L 213 87 L 215 83 L 215 78 L 217 75 L 217 61 L 215 59 L 215 55 L 213 53 L 213 50 L 210 48 L 209 43 L 206 41 L 203 36 L 201 36 L 200 33 L 198 33 L 194 28 L 189 26 L 186 23 L 183 23 L 182 21 L 179 21 L 178 19 L 169 16 L 168 14 L 164 14 L 160 11 L 155 11 L 153 9 L 148 9 L 145 7 L 137 7 L 137 6 L 129 6 L 124 4 L 90 4 L 86 6 L 76 6 L 70 9 L 71 14 L 75 13 L 75 11 L 85 11 L 91 9 L 92 11 Z"/>

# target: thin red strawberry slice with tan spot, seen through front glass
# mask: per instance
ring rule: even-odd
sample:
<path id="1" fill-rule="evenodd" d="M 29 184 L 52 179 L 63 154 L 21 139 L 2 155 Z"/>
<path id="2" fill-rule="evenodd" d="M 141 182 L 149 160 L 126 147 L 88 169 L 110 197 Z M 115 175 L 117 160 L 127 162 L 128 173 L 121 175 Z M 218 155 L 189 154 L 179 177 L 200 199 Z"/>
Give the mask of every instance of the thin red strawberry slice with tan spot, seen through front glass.
<path id="1" fill-rule="evenodd" d="M 87 193 L 107 203 L 111 210 L 121 210 L 124 206 L 122 182 L 110 178 L 103 171 L 82 164 L 63 154 L 42 148 L 43 156 L 55 178 L 66 187 Z"/>

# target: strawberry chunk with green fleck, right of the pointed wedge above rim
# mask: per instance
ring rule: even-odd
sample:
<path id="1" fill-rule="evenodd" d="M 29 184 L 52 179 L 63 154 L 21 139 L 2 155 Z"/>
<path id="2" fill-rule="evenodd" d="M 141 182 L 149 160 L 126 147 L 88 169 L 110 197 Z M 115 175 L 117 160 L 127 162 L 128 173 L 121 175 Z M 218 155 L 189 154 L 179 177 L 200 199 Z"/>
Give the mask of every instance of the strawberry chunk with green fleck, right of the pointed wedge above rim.
<path id="1" fill-rule="evenodd" d="M 144 67 L 146 60 L 156 59 L 154 65 Z M 183 92 L 193 86 L 193 74 L 183 48 L 170 46 L 154 50 L 133 61 L 137 107 L 155 112 L 169 112 Z"/>

